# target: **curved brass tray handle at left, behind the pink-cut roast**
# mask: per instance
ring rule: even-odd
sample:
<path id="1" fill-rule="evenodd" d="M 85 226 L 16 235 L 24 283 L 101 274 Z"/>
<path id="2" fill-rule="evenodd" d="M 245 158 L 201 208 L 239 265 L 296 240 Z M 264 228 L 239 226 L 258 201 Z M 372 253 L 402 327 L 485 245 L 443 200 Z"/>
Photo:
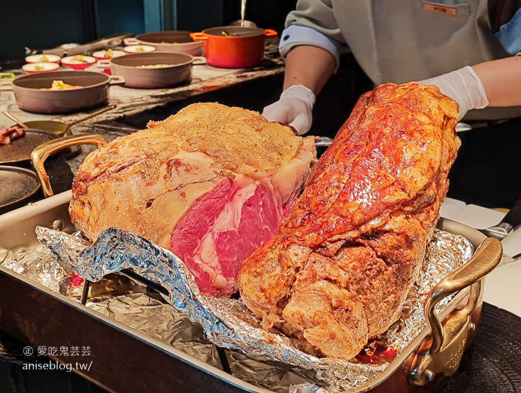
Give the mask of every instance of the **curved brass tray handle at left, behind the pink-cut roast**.
<path id="1" fill-rule="evenodd" d="M 51 189 L 51 183 L 49 182 L 49 176 L 43 166 L 45 159 L 61 149 L 68 148 L 69 146 L 79 144 L 93 144 L 96 146 L 102 146 L 107 143 L 108 140 L 100 134 L 81 134 L 81 135 L 69 135 L 58 139 L 42 143 L 40 146 L 35 148 L 31 152 L 31 165 L 36 171 L 36 175 L 40 179 L 42 184 L 42 190 L 45 198 L 53 196 L 53 190 Z"/>

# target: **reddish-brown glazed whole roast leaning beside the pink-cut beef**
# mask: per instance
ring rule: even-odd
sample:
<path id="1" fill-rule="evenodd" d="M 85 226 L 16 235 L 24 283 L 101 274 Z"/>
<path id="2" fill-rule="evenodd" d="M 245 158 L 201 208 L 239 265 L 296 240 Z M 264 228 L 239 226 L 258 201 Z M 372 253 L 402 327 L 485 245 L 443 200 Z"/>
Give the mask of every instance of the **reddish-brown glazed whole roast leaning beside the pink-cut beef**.
<path id="1" fill-rule="evenodd" d="M 244 261 L 241 298 L 265 329 L 351 359 L 399 317 L 448 188 L 457 117 L 433 86 L 361 96 L 278 234 Z"/>

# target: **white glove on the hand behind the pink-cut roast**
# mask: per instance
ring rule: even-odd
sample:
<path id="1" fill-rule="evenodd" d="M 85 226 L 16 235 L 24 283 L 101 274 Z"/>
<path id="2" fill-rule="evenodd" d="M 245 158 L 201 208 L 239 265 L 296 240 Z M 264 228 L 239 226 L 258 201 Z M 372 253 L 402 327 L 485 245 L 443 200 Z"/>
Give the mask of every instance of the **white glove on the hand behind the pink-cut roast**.
<path id="1" fill-rule="evenodd" d="M 311 128 L 315 94 L 302 84 L 284 90 L 279 101 L 264 108 L 262 115 L 269 121 L 279 121 L 294 127 L 299 135 Z"/>

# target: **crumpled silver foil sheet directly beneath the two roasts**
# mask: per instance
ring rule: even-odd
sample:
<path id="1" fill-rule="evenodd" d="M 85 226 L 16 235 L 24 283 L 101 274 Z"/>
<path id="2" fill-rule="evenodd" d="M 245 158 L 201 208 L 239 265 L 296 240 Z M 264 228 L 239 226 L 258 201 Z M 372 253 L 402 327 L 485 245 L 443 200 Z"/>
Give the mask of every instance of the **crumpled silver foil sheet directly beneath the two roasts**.
<path id="1" fill-rule="evenodd" d="M 387 367 L 316 358 L 299 351 L 294 340 L 259 328 L 255 316 L 240 300 L 202 296 L 192 274 L 176 255 L 132 232 L 106 229 L 89 247 L 84 240 L 48 228 L 38 227 L 36 234 L 43 245 L 88 280 L 97 281 L 108 273 L 131 268 L 162 285 L 169 293 L 165 299 L 192 322 L 201 324 L 208 339 L 220 347 L 240 350 L 259 361 L 278 361 L 316 373 L 317 380 L 309 381 L 313 384 L 292 385 L 291 392 L 356 391 Z M 472 245 L 464 237 L 436 230 L 428 245 L 427 267 L 407 298 L 402 318 L 379 341 L 402 351 L 426 325 L 422 303 L 427 293 L 472 253 Z M 439 307 L 449 301 L 444 299 Z M 318 386 L 324 382 L 329 387 Z"/>

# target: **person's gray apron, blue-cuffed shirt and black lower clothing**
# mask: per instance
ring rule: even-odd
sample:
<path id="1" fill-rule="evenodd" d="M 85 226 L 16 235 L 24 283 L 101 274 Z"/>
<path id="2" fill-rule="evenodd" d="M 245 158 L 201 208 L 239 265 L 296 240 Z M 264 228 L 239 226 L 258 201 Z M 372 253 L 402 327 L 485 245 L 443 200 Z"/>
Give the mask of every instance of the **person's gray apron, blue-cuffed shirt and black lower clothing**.
<path id="1" fill-rule="evenodd" d="M 375 85 L 421 81 L 519 54 L 521 2 L 300 0 L 279 50 L 299 45 L 323 48 L 337 67 L 347 45 Z M 486 127 L 460 134 L 450 196 L 510 207 L 521 195 L 521 106 L 470 110 L 464 121 L 472 120 Z"/>

